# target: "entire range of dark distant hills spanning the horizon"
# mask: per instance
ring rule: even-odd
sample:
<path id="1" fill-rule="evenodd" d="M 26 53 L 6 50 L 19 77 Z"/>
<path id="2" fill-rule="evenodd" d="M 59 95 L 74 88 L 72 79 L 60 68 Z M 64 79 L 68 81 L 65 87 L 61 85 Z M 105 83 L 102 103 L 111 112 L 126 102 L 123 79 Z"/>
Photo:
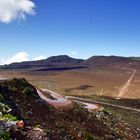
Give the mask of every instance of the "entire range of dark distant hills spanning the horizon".
<path id="1" fill-rule="evenodd" d="M 27 61 L 1 66 L 4 69 L 33 69 L 45 71 L 72 70 L 87 67 L 139 67 L 139 57 L 92 56 L 86 60 L 67 55 L 52 56 L 39 61 Z"/>

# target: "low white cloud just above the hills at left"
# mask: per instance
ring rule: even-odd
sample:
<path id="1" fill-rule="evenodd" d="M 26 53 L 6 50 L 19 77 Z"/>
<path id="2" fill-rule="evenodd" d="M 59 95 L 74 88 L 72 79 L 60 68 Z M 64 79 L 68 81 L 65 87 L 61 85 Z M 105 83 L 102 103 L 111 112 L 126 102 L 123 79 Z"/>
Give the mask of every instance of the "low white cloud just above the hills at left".
<path id="1" fill-rule="evenodd" d="M 39 56 L 31 59 L 26 52 L 19 52 L 19 53 L 13 55 L 12 57 L 9 57 L 9 58 L 6 58 L 6 59 L 5 58 L 0 59 L 0 65 L 11 64 L 11 63 L 14 63 L 14 62 L 41 60 L 41 59 L 45 59 L 45 58 L 46 58 L 45 56 L 39 55 Z"/>

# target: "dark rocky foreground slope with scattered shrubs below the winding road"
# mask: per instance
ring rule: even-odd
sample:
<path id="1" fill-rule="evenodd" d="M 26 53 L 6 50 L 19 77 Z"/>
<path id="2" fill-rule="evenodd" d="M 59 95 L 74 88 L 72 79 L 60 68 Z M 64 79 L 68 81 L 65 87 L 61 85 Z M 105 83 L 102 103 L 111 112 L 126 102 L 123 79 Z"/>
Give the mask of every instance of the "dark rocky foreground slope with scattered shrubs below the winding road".
<path id="1" fill-rule="evenodd" d="M 127 117 L 127 116 L 126 116 Z M 0 82 L 2 140 L 139 140 L 140 129 L 111 111 L 89 112 L 82 104 L 56 109 L 25 79 Z"/>

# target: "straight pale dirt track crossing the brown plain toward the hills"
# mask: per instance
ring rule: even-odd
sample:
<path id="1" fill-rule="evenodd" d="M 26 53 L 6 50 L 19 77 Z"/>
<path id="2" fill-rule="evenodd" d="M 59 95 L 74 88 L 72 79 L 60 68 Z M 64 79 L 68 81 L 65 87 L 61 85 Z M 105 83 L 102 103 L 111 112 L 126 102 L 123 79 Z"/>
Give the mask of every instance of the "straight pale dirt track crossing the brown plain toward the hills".
<path id="1" fill-rule="evenodd" d="M 129 88 L 130 84 L 132 83 L 132 81 L 134 80 L 135 74 L 137 72 L 137 70 L 135 70 L 135 69 L 127 69 L 127 70 L 132 70 L 132 74 L 131 74 L 130 78 L 128 79 L 128 81 L 120 89 L 120 92 L 119 92 L 119 94 L 118 94 L 116 99 L 122 98 L 123 95 L 128 91 L 128 88 Z"/>

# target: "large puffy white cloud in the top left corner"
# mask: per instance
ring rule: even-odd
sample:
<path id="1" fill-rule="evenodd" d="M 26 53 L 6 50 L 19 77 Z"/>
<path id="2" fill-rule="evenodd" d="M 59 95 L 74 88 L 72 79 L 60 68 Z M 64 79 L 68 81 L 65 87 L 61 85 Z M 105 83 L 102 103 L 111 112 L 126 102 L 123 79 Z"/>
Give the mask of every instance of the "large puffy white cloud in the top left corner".
<path id="1" fill-rule="evenodd" d="M 0 0 L 0 22 L 25 19 L 26 15 L 35 14 L 34 8 L 31 0 Z"/>

